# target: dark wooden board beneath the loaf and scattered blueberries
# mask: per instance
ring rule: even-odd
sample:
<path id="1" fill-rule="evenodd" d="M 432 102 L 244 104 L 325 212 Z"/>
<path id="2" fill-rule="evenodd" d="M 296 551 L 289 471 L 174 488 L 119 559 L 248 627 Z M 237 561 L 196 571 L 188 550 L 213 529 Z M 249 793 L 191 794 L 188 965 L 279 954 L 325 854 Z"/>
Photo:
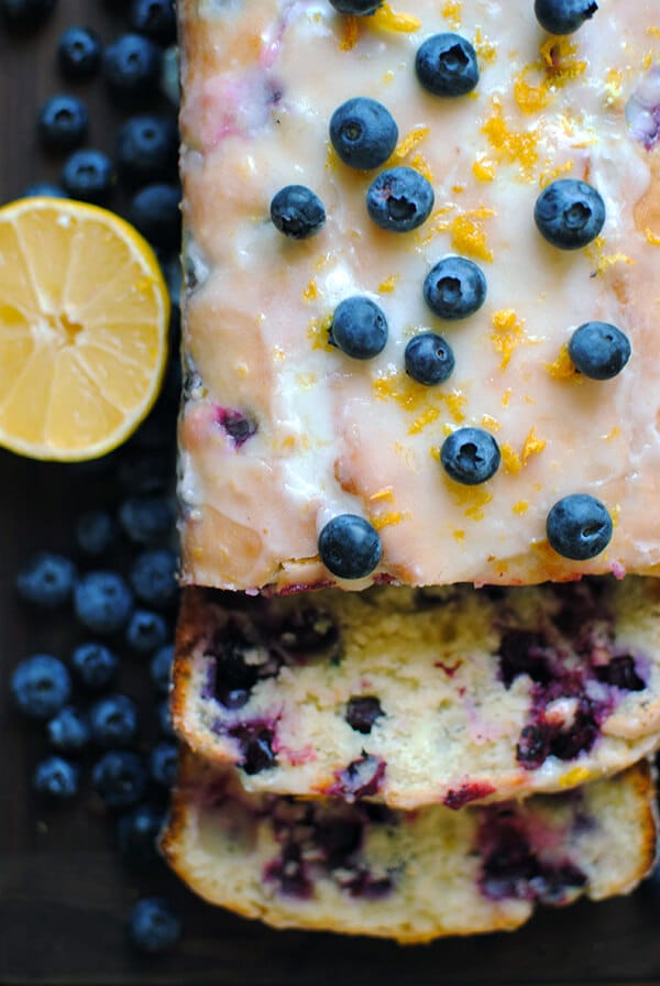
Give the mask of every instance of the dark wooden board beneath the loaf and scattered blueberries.
<path id="1" fill-rule="evenodd" d="M 116 10 L 120 0 L 113 0 Z M 258 0 L 252 0 L 258 2 Z M 110 4 L 112 7 L 112 4 Z M 96 26 L 105 41 L 123 23 L 101 0 L 58 0 L 36 36 L 16 42 L 0 29 L 0 200 L 29 183 L 57 177 L 35 141 L 35 109 L 62 91 L 54 66 L 61 30 Z M 70 91 L 70 87 L 68 87 Z M 81 90 L 82 91 L 82 90 Z M 111 150 L 121 116 L 97 80 L 84 89 L 91 110 L 90 144 Z M 196 900 L 169 874 L 141 878 L 122 867 L 112 825 L 88 791 L 74 808 L 45 809 L 30 790 L 44 742 L 12 712 L 8 676 L 41 649 L 66 656 L 70 620 L 35 618 L 19 604 L 15 573 L 38 548 L 69 550 L 76 516 L 91 504 L 113 505 L 114 464 L 58 467 L 0 452 L 0 983 L 222 984 L 315 986 L 346 983 L 534 984 L 659 983 L 660 894 L 639 890 L 601 905 L 539 913 L 514 934 L 399 947 L 366 939 L 274 932 Z M 144 669 L 129 667 L 122 686 L 151 692 Z M 125 918 L 146 892 L 173 896 L 184 936 L 166 957 L 142 960 L 127 945 Z"/>

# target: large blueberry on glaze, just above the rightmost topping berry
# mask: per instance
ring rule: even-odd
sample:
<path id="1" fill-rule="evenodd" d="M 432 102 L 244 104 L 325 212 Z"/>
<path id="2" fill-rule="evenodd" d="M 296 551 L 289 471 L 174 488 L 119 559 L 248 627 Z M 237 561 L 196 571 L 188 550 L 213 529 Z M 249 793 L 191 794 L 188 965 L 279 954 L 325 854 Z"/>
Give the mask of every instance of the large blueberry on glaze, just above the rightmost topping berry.
<path id="1" fill-rule="evenodd" d="M 541 235 L 553 246 L 579 250 L 603 229 L 605 202 L 586 182 L 560 178 L 541 191 L 534 218 Z"/>

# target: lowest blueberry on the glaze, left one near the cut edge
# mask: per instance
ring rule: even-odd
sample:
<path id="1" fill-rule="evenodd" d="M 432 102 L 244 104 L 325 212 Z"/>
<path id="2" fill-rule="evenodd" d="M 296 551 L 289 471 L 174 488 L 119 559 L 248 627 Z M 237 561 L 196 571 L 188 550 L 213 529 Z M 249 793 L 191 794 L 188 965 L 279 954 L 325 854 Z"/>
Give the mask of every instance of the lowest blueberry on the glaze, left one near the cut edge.
<path id="1" fill-rule="evenodd" d="M 377 530 L 364 517 L 339 514 L 319 535 L 321 561 L 340 579 L 363 579 L 378 566 L 382 556 Z"/>

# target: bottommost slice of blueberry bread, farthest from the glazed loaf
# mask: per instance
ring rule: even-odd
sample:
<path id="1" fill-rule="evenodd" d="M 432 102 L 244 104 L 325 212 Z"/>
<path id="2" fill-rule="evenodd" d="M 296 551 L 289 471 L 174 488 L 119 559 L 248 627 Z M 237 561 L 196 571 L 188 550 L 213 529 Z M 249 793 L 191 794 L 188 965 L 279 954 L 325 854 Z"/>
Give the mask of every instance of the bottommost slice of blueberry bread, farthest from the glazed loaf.
<path id="1" fill-rule="evenodd" d="M 522 803 L 406 813 L 249 795 L 188 752 L 161 845 L 195 892 L 246 918 L 424 942 L 631 890 L 654 857 L 653 785 L 639 764 Z"/>

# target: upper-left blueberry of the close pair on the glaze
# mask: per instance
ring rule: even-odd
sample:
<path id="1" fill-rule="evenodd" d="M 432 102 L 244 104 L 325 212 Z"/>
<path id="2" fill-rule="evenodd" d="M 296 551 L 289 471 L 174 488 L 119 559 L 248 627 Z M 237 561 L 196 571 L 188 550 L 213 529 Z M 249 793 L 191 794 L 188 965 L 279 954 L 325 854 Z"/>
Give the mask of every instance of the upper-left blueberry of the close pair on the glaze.
<path id="1" fill-rule="evenodd" d="M 330 118 L 330 140 L 344 164 L 370 171 L 384 164 L 398 140 L 398 127 L 382 102 L 356 96 Z"/>

